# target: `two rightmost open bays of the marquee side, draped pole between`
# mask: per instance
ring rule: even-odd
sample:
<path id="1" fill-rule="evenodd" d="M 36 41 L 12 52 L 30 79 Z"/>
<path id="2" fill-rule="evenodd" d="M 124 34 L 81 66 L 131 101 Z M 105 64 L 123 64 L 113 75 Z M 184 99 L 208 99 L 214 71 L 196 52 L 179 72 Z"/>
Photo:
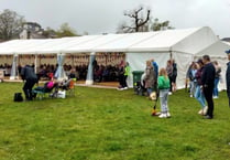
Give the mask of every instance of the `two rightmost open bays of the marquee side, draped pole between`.
<path id="1" fill-rule="evenodd" d="M 91 81 L 97 84 L 118 82 L 118 66 L 121 61 L 125 61 L 123 52 L 66 53 L 64 70 L 68 75 L 74 68 L 77 79 L 81 82 L 88 79 L 87 75 L 92 76 Z"/>

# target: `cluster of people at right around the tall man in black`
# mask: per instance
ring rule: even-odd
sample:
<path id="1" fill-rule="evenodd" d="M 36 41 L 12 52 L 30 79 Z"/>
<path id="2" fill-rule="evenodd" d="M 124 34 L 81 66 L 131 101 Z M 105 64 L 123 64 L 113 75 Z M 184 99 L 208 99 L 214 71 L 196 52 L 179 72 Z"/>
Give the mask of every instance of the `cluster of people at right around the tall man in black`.
<path id="1" fill-rule="evenodd" d="M 221 67 L 217 61 L 210 62 L 208 55 L 193 62 L 187 71 L 189 94 L 195 97 L 201 109 L 198 114 L 207 119 L 213 118 L 213 98 L 219 98 L 218 85 L 221 78 Z"/>

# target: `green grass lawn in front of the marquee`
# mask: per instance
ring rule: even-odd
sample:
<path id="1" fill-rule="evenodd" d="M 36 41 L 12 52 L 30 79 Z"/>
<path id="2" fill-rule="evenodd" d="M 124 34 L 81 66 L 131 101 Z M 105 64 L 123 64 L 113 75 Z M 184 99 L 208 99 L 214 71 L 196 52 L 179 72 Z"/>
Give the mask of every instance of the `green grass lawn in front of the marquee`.
<path id="1" fill-rule="evenodd" d="M 215 119 L 202 119 L 185 90 L 169 96 L 172 118 L 160 119 L 150 116 L 153 102 L 133 89 L 76 87 L 75 97 L 14 103 L 21 87 L 0 83 L 0 160 L 230 158 L 226 93 L 215 99 Z"/>

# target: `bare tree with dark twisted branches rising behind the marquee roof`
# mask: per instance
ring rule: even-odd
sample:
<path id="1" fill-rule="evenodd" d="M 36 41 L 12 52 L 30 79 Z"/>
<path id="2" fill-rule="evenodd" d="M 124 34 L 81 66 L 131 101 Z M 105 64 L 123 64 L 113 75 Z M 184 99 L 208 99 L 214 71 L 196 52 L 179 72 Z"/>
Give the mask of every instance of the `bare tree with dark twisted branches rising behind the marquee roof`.
<path id="1" fill-rule="evenodd" d="M 146 11 L 146 18 L 143 18 L 143 7 L 140 7 L 136 10 L 124 12 L 125 17 L 129 17 L 132 19 L 133 24 L 131 25 L 121 25 L 121 30 L 123 32 L 143 32 L 144 29 L 146 28 L 146 23 L 150 20 L 150 13 L 151 10 Z"/>

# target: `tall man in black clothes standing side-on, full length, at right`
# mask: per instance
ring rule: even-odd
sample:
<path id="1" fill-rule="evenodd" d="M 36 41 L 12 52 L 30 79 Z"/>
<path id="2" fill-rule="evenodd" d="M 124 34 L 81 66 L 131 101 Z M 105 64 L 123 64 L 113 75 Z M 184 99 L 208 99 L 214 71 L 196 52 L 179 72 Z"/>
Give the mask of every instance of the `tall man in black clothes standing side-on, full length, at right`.
<path id="1" fill-rule="evenodd" d="M 213 64 L 210 62 L 209 55 L 202 56 L 202 75 L 201 75 L 201 89 L 204 92 L 206 102 L 208 103 L 208 111 L 205 116 L 206 119 L 212 119 L 213 118 L 213 99 L 212 99 L 212 93 L 213 93 L 213 86 L 215 86 L 215 75 L 216 70 Z"/>

